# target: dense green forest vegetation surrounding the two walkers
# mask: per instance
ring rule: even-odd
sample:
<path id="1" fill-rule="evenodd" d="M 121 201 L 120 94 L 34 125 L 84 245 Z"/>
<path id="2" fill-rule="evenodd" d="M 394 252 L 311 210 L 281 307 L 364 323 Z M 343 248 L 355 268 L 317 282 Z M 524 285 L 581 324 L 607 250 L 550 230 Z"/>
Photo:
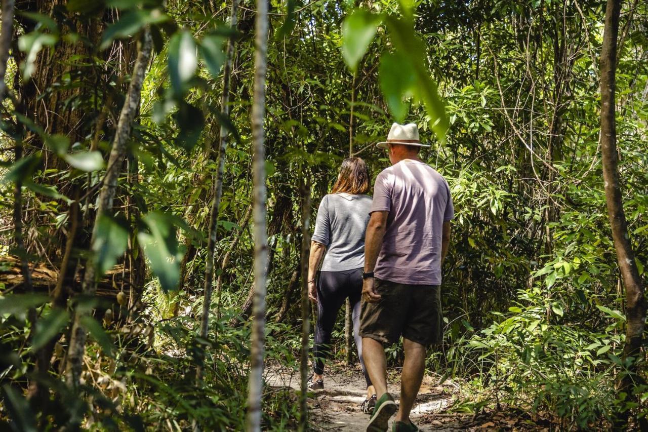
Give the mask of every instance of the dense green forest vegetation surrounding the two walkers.
<path id="1" fill-rule="evenodd" d="M 647 3 L 2 4 L 5 427 L 240 430 L 248 386 L 262 429 L 305 427 L 255 359 L 299 369 L 311 215 L 393 121 L 456 208 L 447 412 L 642 425 Z"/>

